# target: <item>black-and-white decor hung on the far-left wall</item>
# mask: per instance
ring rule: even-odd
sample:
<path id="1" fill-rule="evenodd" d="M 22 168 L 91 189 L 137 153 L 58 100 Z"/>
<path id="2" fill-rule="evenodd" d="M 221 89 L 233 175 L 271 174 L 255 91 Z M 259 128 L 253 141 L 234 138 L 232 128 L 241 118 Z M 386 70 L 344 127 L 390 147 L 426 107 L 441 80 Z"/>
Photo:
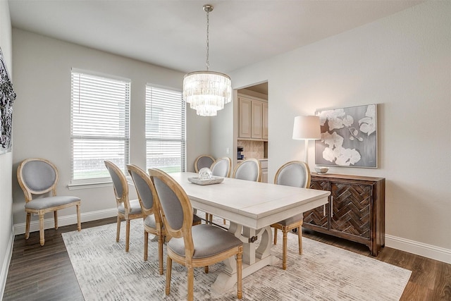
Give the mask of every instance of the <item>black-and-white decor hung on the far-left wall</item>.
<path id="1" fill-rule="evenodd" d="M 11 152 L 14 99 L 16 99 L 16 93 L 14 93 L 6 61 L 0 49 L 0 154 Z"/>

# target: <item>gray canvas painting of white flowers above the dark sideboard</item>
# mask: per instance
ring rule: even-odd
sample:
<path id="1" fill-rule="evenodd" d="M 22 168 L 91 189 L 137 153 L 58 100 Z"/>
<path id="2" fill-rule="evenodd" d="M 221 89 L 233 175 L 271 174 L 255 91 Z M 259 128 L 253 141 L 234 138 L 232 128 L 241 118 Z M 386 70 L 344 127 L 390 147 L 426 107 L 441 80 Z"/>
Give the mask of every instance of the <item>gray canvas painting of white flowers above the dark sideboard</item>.
<path id="1" fill-rule="evenodd" d="M 321 140 L 315 164 L 377 168 L 377 106 L 352 106 L 316 111 Z"/>

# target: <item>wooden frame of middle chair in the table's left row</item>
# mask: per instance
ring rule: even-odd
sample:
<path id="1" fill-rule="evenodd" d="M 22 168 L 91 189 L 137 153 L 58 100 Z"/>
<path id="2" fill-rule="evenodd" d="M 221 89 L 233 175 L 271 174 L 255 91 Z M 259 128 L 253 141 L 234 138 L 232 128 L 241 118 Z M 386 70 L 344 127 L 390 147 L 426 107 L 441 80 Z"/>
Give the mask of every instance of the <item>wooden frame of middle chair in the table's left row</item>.
<path id="1" fill-rule="evenodd" d="M 166 230 L 163 228 L 163 220 L 161 219 L 160 211 L 157 207 L 157 202 L 155 200 L 158 198 L 158 195 L 156 194 L 154 183 L 152 183 L 152 180 L 150 179 L 149 175 L 138 166 L 129 164 L 127 165 L 127 169 L 128 173 L 130 173 L 130 176 L 132 177 L 133 183 L 135 183 L 136 193 L 138 199 L 140 200 L 143 221 L 147 218 L 147 216 L 153 215 L 155 218 L 156 225 L 155 228 L 152 228 L 151 226 L 148 226 L 146 223 L 144 223 L 144 262 L 147 261 L 147 254 L 149 250 L 149 233 L 150 233 L 156 235 L 156 237 L 158 238 L 159 273 L 160 275 L 163 275 L 163 242 L 166 238 Z M 140 189 L 138 188 L 135 176 L 140 177 L 142 180 L 144 180 L 144 182 L 149 187 L 149 190 L 152 193 L 152 199 L 154 199 L 151 208 L 147 208 L 144 202 L 142 201 L 143 196 L 140 194 Z"/>

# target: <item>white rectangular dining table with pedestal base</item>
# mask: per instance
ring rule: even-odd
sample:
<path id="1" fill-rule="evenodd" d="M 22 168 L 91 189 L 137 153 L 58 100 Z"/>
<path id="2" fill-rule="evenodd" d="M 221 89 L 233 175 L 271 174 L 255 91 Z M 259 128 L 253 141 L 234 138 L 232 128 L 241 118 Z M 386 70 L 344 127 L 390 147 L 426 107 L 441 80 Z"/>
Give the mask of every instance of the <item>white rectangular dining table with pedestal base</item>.
<path id="1" fill-rule="evenodd" d="M 188 178 L 197 173 L 170 173 L 187 193 L 192 207 L 230 221 L 228 231 L 242 240 L 242 277 L 264 266 L 277 264 L 271 254 L 271 224 L 288 219 L 328 202 L 330 192 L 291 186 L 224 178 L 222 183 L 198 185 Z M 259 240 L 257 246 L 256 241 Z M 226 268 L 211 288 L 223 293 L 236 283 L 234 257 L 224 261 Z"/>

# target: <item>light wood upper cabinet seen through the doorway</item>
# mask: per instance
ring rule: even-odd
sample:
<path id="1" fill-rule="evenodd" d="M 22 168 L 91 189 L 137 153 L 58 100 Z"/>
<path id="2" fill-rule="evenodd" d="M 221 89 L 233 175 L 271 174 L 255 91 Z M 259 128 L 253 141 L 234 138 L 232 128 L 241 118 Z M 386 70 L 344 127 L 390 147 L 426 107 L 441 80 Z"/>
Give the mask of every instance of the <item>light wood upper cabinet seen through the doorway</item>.
<path id="1" fill-rule="evenodd" d="M 268 102 L 238 94 L 238 138 L 268 140 Z"/>

